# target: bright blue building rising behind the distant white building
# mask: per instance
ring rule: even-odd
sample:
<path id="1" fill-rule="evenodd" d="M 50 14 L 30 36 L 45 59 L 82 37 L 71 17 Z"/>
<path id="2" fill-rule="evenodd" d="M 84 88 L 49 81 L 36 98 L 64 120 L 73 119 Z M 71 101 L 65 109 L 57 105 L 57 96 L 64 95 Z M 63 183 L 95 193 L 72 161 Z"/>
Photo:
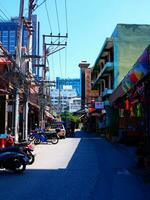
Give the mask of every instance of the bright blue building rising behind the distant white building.
<path id="1" fill-rule="evenodd" d="M 79 78 L 56 77 L 56 89 L 63 89 L 63 86 L 65 85 L 71 85 L 73 89 L 76 89 L 78 97 L 81 96 L 81 84 Z"/>

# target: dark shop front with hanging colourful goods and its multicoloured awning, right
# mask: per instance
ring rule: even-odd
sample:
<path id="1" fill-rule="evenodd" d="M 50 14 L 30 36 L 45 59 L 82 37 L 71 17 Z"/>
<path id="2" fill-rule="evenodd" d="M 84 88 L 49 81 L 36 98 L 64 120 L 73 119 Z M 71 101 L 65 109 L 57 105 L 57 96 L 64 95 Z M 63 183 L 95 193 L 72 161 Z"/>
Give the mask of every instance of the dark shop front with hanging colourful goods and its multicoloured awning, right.
<path id="1" fill-rule="evenodd" d="M 149 55 L 150 46 L 110 96 L 112 107 L 118 110 L 117 135 L 125 143 L 150 145 Z"/>

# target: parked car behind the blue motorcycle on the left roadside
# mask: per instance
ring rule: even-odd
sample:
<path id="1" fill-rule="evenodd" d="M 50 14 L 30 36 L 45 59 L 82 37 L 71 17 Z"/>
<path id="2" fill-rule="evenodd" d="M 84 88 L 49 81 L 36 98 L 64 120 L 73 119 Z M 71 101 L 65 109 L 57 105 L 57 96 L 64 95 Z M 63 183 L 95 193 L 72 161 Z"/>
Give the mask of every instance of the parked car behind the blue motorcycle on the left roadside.
<path id="1" fill-rule="evenodd" d="M 66 130 L 63 124 L 51 124 L 45 129 L 45 131 L 54 133 L 56 132 L 56 129 L 60 129 L 57 133 L 60 138 L 66 137 Z"/>

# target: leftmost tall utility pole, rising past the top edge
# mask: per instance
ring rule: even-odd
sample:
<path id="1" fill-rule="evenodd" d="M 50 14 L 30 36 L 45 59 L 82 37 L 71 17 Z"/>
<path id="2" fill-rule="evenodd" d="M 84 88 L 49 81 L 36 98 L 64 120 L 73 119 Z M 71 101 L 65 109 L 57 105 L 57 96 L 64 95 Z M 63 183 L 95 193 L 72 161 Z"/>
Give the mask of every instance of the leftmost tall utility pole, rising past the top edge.
<path id="1" fill-rule="evenodd" d="M 24 0 L 20 0 L 20 9 L 19 9 L 19 22 L 18 22 L 18 32 L 17 32 L 17 48 L 16 48 L 16 64 L 21 67 L 21 46 L 22 46 L 22 29 L 23 29 L 23 9 L 24 9 Z M 14 116 L 13 116 L 13 134 L 15 135 L 15 142 L 18 142 L 19 139 L 19 83 L 16 75 L 16 88 L 14 89 Z"/>

